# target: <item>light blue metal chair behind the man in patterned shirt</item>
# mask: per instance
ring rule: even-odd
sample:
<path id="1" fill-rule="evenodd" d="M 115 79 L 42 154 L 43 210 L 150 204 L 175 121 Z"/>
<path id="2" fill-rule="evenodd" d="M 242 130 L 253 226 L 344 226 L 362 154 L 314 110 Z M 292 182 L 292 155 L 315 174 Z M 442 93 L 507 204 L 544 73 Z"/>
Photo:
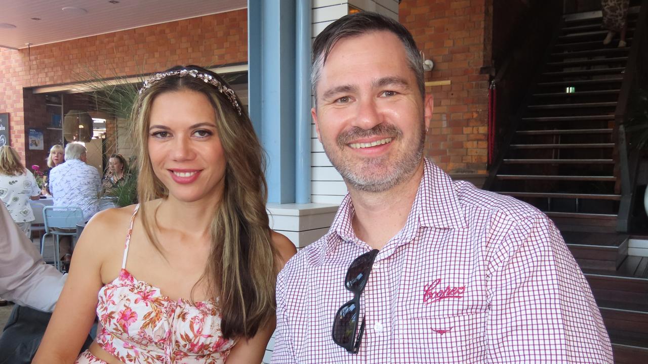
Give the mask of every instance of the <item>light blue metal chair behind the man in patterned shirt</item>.
<path id="1" fill-rule="evenodd" d="M 83 210 L 76 206 L 58 207 L 45 206 L 43 208 L 43 222 L 45 223 L 45 234 L 41 238 L 41 255 L 45 246 L 45 237 L 54 237 L 54 267 L 59 271 L 62 269 L 61 257 L 59 256 L 59 242 L 61 236 L 72 236 L 76 239 L 76 223 L 83 221 Z M 65 229 L 65 230 L 64 230 Z"/>

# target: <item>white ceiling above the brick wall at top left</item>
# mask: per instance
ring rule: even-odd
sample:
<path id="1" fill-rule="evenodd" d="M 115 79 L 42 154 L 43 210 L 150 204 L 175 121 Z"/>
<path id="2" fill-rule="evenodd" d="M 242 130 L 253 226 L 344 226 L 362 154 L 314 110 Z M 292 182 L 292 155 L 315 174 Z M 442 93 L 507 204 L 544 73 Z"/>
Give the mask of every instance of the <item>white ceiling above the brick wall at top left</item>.
<path id="1" fill-rule="evenodd" d="M 21 49 L 246 8 L 247 0 L 0 0 L 0 47 Z M 86 10 L 62 10 L 65 7 Z M 38 17 L 41 20 L 32 20 Z M 5 24 L 15 25 L 7 28 Z M 5 26 L 3 26 L 5 25 Z"/>

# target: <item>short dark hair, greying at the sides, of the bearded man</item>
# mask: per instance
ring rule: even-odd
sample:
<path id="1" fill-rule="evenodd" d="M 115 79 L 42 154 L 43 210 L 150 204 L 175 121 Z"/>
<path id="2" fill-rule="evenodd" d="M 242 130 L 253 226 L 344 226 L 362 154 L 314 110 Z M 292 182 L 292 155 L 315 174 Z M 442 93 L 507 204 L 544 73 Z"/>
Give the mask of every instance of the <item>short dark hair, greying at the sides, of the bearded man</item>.
<path id="1" fill-rule="evenodd" d="M 313 43 L 313 67 L 310 73 L 310 81 L 312 82 L 313 95 L 317 93 L 316 87 L 321 77 L 321 71 L 329 56 L 330 50 L 333 49 L 335 43 L 343 38 L 354 36 L 361 36 L 369 32 L 386 31 L 391 32 L 399 38 L 405 48 L 407 60 L 411 71 L 413 71 L 421 97 L 425 95 L 425 79 L 423 76 L 423 63 L 421 60 L 421 52 L 416 46 L 414 38 L 411 36 L 402 24 L 390 17 L 380 15 L 375 12 L 358 12 L 356 14 L 349 14 L 340 19 L 330 23 L 328 27 L 324 28 L 321 33 L 315 38 Z M 316 101 L 317 103 L 317 101 Z"/>

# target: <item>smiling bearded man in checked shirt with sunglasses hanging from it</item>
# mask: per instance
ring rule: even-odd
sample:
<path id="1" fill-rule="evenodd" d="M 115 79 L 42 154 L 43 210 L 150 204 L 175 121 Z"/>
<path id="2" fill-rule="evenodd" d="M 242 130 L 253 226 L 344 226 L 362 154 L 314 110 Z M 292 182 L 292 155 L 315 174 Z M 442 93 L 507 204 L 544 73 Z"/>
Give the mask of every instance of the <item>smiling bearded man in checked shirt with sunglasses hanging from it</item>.
<path id="1" fill-rule="evenodd" d="M 555 225 L 422 157 L 432 97 L 411 34 L 360 12 L 313 58 L 312 117 L 349 194 L 277 277 L 272 362 L 612 363 Z"/>

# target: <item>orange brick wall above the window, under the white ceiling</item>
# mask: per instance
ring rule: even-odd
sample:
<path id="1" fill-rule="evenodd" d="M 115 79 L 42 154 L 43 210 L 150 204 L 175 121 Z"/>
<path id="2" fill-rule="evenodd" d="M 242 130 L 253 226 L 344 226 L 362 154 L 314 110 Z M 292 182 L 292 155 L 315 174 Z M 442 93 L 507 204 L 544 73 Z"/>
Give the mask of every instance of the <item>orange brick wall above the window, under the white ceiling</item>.
<path id="1" fill-rule="evenodd" d="M 178 64 L 247 62 L 247 47 L 247 10 L 243 9 L 31 49 L 0 49 L 0 113 L 10 113 L 10 142 L 25 161 L 25 87 L 78 82 L 88 69 L 113 77 Z"/>

